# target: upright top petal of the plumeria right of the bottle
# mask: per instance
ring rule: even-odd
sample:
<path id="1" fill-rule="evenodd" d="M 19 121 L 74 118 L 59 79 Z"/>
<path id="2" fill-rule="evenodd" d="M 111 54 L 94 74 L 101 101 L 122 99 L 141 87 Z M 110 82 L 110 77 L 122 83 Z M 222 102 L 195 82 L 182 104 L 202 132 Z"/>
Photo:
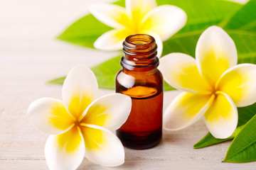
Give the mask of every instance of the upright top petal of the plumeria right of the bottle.
<path id="1" fill-rule="evenodd" d="M 234 41 L 222 28 L 211 26 L 198 40 L 196 62 L 203 77 L 215 85 L 223 72 L 238 62 Z"/>

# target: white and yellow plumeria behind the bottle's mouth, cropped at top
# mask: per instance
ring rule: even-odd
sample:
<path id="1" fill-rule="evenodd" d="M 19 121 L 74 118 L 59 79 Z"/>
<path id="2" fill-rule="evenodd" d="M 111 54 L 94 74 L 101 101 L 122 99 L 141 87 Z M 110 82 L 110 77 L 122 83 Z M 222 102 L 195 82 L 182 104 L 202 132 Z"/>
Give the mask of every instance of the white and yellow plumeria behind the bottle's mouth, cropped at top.
<path id="1" fill-rule="evenodd" d="M 95 4 L 90 12 L 102 23 L 114 28 L 98 38 L 99 50 L 120 50 L 128 35 L 143 33 L 155 38 L 158 57 L 164 40 L 169 39 L 186 23 L 186 13 L 177 6 L 157 6 L 155 0 L 126 0 L 126 8 L 113 4 Z"/>

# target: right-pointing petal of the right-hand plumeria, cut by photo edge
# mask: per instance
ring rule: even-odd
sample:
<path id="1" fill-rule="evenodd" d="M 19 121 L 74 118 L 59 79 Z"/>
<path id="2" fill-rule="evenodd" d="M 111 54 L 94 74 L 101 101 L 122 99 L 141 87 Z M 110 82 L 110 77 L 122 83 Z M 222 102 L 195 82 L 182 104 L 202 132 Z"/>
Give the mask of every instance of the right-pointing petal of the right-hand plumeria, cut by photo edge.
<path id="1" fill-rule="evenodd" d="M 220 77 L 216 89 L 228 94 L 238 107 L 256 102 L 256 65 L 238 64 Z"/>

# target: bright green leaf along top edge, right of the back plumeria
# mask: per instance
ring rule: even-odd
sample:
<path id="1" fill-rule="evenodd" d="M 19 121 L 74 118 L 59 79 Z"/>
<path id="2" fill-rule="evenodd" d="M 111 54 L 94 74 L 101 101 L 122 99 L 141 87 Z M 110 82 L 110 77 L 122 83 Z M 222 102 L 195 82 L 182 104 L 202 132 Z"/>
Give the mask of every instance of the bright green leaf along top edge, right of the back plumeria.
<path id="1" fill-rule="evenodd" d="M 186 12 L 188 17 L 186 26 L 177 34 L 205 30 L 209 26 L 218 25 L 242 7 L 241 4 L 220 0 L 159 0 L 157 4 L 178 6 Z"/>

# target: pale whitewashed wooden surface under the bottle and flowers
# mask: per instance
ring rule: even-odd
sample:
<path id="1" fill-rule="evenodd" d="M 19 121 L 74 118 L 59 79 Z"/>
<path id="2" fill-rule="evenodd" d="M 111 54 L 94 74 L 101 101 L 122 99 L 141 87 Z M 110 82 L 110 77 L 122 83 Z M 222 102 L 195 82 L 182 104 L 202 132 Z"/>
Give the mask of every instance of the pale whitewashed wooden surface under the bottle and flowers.
<path id="1" fill-rule="evenodd" d="M 48 135 L 28 123 L 29 103 L 44 96 L 61 98 L 61 86 L 46 81 L 67 74 L 75 64 L 92 67 L 116 55 L 54 40 L 97 2 L 0 0 L 0 169 L 47 169 L 43 147 Z M 101 95 L 113 92 L 100 90 Z M 164 107 L 176 94 L 165 94 Z M 199 120 L 185 130 L 164 131 L 154 149 L 125 149 L 122 166 L 107 168 L 85 159 L 79 169 L 256 169 L 256 163 L 221 163 L 230 142 L 193 149 L 207 132 Z"/>

